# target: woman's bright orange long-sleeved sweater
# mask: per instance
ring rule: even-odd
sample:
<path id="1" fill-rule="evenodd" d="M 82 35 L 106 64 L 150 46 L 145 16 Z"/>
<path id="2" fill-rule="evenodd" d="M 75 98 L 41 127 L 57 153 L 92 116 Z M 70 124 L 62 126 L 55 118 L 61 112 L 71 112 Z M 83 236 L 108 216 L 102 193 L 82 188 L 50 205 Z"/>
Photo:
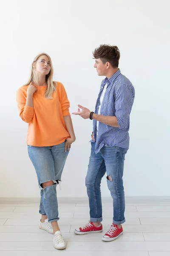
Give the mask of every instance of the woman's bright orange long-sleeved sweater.
<path id="1" fill-rule="evenodd" d="M 70 137 L 63 116 L 70 116 L 70 103 L 64 86 L 57 82 L 54 99 L 45 99 L 47 86 L 33 94 L 34 108 L 26 106 L 27 86 L 17 90 L 20 117 L 28 123 L 27 145 L 45 147 L 60 144 Z"/>

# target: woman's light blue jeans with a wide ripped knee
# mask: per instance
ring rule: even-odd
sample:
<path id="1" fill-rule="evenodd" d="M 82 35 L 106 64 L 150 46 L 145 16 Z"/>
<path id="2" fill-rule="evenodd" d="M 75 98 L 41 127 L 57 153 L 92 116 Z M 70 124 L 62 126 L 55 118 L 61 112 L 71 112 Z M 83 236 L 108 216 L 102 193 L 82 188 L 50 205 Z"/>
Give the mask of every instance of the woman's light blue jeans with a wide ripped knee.
<path id="1" fill-rule="evenodd" d="M 56 186 L 61 180 L 62 170 L 68 156 L 65 142 L 50 147 L 28 145 L 28 155 L 37 173 L 40 186 L 40 214 L 47 215 L 48 221 L 58 221 Z M 42 188 L 42 183 L 52 180 L 55 184 Z"/>

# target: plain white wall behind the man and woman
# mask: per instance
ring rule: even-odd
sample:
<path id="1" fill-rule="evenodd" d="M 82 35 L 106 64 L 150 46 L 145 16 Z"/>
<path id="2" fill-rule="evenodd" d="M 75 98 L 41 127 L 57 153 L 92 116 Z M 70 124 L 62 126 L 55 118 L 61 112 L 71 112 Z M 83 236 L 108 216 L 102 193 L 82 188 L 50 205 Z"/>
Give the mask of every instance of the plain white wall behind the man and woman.
<path id="1" fill-rule="evenodd" d="M 99 44 L 119 47 L 119 67 L 136 89 L 126 195 L 170 195 L 170 1 L 6 0 L 0 9 L 0 197 L 39 197 L 27 154 L 27 124 L 15 99 L 33 58 L 40 52 L 51 56 L 54 79 L 64 84 L 71 112 L 77 104 L 94 110 L 103 79 L 93 68 L 92 51 Z M 60 197 L 86 196 L 92 122 L 79 116 L 72 120 L 77 140 Z M 105 178 L 102 195 L 110 195 Z"/>

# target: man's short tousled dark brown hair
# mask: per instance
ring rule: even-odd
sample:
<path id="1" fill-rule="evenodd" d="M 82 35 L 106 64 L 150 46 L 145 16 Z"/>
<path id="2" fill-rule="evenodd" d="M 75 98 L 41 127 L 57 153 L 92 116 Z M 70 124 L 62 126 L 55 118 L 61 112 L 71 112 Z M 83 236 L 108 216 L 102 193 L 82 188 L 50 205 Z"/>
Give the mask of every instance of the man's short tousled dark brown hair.
<path id="1" fill-rule="evenodd" d="M 116 45 L 101 44 L 94 50 L 93 56 L 95 59 L 100 58 L 103 64 L 108 61 L 114 68 L 119 66 L 120 52 Z"/>

